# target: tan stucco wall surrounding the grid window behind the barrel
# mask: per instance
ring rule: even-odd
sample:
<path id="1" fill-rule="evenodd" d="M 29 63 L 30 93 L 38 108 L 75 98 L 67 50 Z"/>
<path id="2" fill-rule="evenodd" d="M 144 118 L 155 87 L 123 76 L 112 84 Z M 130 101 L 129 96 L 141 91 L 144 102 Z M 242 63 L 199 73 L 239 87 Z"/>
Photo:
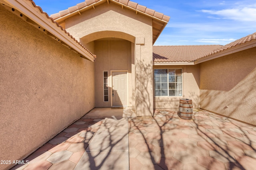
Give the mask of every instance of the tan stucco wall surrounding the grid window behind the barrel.
<path id="1" fill-rule="evenodd" d="M 158 68 L 182 68 L 183 70 L 183 96 L 156 96 L 154 97 L 154 108 L 178 108 L 180 99 L 191 99 L 194 108 L 200 107 L 200 66 L 199 65 L 180 65 L 180 66 L 154 66 Z M 154 82 L 153 82 L 154 83 Z"/>

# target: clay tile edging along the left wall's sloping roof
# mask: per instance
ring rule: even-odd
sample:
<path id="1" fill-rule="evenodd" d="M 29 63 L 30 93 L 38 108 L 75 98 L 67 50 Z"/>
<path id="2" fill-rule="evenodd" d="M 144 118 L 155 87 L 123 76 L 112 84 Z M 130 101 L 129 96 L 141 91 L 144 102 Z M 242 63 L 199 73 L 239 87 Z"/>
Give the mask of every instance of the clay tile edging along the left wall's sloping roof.
<path id="1" fill-rule="evenodd" d="M 38 8 L 42 14 L 45 14 L 46 18 L 50 19 L 53 23 L 55 23 L 57 27 L 60 27 L 61 31 L 63 31 L 64 33 L 66 33 L 70 38 L 74 39 L 74 41 L 76 41 L 76 43 L 77 43 L 78 45 L 80 45 L 85 51 L 87 51 L 90 55 L 92 55 L 92 56 L 94 57 L 94 59 L 96 58 L 96 55 L 92 54 L 92 53 L 91 53 L 88 49 L 86 49 L 78 40 L 76 40 L 72 35 L 70 35 L 70 33 L 68 33 L 68 32 L 66 31 L 66 29 L 64 29 L 64 28 L 63 28 L 62 26 L 60 26 L 56 21 L 54 21 L 53 18 L 49 17 L 48 14 L 47 14 L 46 12 L 44 12 L 40 6 L 37 6 L 33 0 L 29 0 L 29 1 L 32 2 L 33 6 L 34 6 L 35 8 Z M 74 7 L 72 7 L 72 8 L 74 8 Z M 66 10 L 62 11 L 62 13 L 65 13 L 65 14 L 66 14 Z"/>

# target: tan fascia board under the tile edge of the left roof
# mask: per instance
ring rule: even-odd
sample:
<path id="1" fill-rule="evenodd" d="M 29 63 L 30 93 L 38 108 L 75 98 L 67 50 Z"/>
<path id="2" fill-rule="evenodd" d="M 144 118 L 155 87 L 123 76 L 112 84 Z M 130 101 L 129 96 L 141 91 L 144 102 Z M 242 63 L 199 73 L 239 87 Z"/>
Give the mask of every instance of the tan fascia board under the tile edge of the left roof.
<path id="1" fill-rule="evenodd" d="M 31 20 L 33 20 L 38 25 L 41 25 L 44 27 L 47 31 L 52 33 L 54 36 L 58 37 L 61 41 L 64 41 L 67 45 L 69 45 L 72 49 L 89 59 L 90 61 L 94 62 L 94 57 L 85 51 L 82 46 L 77 45 L 77 42 L 74 41 L 73 38 L 68 36 L 64 31 L 56 25 L 56 23 L 53 23 L 51 19 L 46 19 L 44 16 L 45 14 L 42 14 L 40 12 L 39 8 L 35 8 L 29 0 L 4 0 L 6 3 L 12 5 L 14 8 L 19 10 L 22 14 L 29 17 Z M 30 4 L 28 4 L 30 3 Z"/>

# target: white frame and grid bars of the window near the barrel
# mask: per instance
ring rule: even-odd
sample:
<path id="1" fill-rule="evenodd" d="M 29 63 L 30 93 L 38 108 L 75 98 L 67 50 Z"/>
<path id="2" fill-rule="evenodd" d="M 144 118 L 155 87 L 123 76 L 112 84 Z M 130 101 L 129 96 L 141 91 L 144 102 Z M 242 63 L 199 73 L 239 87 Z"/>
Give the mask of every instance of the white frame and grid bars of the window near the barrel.
<path id="1" fill-rule="evenodd" d="M 178 82 L 176 82 L 176 76 L 177 76 L 176 70 L 179 70 L 179 69 L 181 69 L 181 76 L 182 76 L 182 81 L 181 81 L 182 85 L 181 85 L 181 88 L 176 88 L 176 86 L 175 86 L 175 88 L 173 89 L 173 90 L 175 90 L 175 95 L 174 95 L 174 96 L 169 96 L 169 90 L 171 90 L 170 87 L 169 87 L 169 70 L 175 70 L 175 74 L 174 74 L 174 76 L 175 76 L 175 82 L 174 82 L 174 83 L 178 83 Z M 167 95 L 166 95 L 166 96 L 162 96 L 162 95 L 161 95 L 161 96 L 156 96 L 156 90 L 158 90 L 158 89 L 156 89 L 155 70 L 167 70 Z M 160 76 L 160 77 L 161 77 L 161 76 Z M 184 77 L 183 68 L 154 68 L 154 96 L 155 96 L 155 97 L 182 97 L 183 94 L 184 94 L 184 81 L 183 81 L 183 77 Z M 170 82 L 170 83 L 172 83 L 172 82 Z M 181 96 L 176 96 L 176 90 L 179 90 L 179 89 L 182 90 L 182 94 L 181 94 Z"/>

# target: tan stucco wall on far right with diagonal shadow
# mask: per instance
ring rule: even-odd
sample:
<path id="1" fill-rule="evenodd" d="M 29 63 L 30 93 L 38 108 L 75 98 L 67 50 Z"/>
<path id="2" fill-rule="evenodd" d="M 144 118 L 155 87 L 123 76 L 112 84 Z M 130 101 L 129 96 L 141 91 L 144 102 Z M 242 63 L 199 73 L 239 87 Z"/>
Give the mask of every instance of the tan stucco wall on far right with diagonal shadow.
<path id="1" fill-rule="evenodd" d="M 256 125 L 256 48 L 200 64 L 200 107 Z"/>

